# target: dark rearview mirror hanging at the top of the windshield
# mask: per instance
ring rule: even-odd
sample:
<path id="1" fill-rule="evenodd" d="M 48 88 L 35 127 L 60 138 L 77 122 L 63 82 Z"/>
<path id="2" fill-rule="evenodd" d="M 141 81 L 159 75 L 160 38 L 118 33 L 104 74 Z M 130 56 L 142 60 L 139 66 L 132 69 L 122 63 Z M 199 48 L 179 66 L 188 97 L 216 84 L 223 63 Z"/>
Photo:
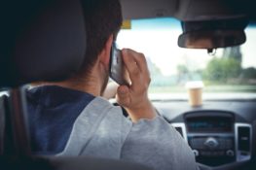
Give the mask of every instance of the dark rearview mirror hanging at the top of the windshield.
<path id="1" fill-rule="evenodd" d="M 244 28 L 246 17 L 182 21 L 183 33 L 178 38 L 178 46 L 187 49 L 218 49 L 233 47 L 246 41 Z"/>

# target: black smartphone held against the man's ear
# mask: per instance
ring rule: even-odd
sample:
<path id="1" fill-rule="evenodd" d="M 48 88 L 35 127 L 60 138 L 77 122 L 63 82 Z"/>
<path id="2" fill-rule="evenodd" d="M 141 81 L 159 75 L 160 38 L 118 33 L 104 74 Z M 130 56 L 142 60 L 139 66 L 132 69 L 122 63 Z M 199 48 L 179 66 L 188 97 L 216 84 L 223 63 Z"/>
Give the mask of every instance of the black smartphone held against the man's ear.
<path id="1" fill-rule="evenodd" d="M 128 73 L 126 71 L 122 52 L 117 48 L 116 43 L 113 43 L 110 62 L 109 62 L 109 76 L 113 81 L 119 85 L 129 85 L 128 84 Z"/>

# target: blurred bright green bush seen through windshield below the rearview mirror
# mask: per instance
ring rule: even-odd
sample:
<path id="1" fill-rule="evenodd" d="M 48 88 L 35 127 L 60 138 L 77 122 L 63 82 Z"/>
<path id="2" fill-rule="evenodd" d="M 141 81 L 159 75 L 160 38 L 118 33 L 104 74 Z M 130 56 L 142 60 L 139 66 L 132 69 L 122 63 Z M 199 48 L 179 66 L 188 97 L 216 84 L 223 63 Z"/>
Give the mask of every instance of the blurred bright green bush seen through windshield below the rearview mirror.
<path id="1" fill-rule="evenodd" d="M 203 80 L 217 83 L 227 83 L 238 78 L 241 72 L 240 63 L 234 58 L 213 58 L 203 72 Z"/>

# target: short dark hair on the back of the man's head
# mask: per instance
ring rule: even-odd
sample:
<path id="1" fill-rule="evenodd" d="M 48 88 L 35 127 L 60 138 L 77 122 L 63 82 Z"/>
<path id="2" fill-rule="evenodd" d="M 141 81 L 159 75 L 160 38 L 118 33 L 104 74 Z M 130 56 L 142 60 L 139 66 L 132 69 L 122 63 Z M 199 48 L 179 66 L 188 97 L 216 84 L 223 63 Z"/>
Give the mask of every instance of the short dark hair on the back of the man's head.
<path id="1" fill-rule="evenodd" d="M 82 0 L 82 3 L 87 29 L 87 51 L 81 70 L 89 72 L 109 36 L 114 34 L 116 38 L 123 17 L 119 0 Z"/>

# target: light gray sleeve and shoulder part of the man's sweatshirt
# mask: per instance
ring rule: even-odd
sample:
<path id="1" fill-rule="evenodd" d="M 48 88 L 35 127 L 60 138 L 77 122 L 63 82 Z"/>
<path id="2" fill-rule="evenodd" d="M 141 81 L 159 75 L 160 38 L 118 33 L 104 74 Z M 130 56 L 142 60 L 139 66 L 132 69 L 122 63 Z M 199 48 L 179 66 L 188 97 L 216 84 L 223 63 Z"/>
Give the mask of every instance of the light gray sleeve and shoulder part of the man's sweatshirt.
<path id="1" fill-rule="evenodd" d="M 90 155 L 138 162 L 156 170 L 195 170 L 195 155 L 162 117 L 132 123 L 120 107 L 95 97 L 76 119 L 58 155 Z"/>

